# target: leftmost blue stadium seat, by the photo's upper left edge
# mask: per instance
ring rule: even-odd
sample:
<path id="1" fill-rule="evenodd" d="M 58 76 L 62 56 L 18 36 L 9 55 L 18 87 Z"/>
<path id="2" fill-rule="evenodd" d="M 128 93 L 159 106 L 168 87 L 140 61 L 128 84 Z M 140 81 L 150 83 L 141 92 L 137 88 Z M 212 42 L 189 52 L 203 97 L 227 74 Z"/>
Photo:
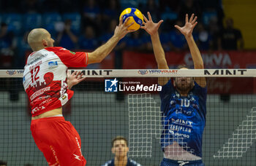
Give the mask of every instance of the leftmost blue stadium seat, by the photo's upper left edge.
<path id="1" fill-rule="evenodd" d="M 2 17 L 2 22 L 7 23 L 8 30 L 15 34 L 23 32 L 22 15 L 18 13 L 5 13 Z"/>

